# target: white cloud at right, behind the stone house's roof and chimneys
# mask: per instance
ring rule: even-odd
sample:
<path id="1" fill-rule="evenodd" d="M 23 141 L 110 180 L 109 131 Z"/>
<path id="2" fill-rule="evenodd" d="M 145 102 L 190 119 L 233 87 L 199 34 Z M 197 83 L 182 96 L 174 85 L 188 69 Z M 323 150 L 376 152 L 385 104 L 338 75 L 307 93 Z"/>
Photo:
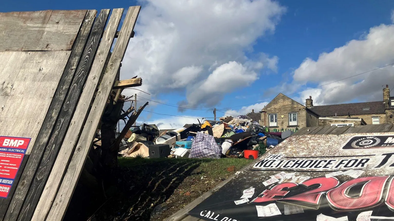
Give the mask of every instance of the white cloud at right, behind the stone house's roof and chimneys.
<path id="1" fill-rule="evenodd" d="M 314 61 L 306 58 L 294 71 L 292 85 L 324 85 L 339 79 L 394 63 L 394 25 L 381 24 L 369 30 L 364 39 L 352 40 Z M 366 74 L 300 93 L 305 102 L 310 93 L 319 104 L 346 103 L 352 99 L 383 100 L 382 85 L 394 84 L 394 67 L 387 66 Z"/>

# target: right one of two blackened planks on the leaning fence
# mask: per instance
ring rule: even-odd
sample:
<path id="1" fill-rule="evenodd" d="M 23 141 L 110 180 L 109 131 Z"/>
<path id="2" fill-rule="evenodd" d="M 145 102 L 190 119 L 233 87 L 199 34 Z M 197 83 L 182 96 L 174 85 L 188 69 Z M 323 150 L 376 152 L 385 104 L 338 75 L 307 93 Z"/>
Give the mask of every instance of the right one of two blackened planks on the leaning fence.
<path id="1" fill-rule="evenodd" d="M 28 195 L 23 203 L 22 210 L 20 210 L 20 214 L 17 220 L 30 220 L 33 216 L 35 206 L 39 201 L 46 180 L 48 179 L 48 175 L 57 157 L 61 143 L 63 142 L 65 133 L 67 132 L 67 128 L 76 107 L 76 103 L 80 97 L 87 73 L 89 72 L 89 69 L 93 62 L 93 58 L 95 56 L 97 46 L 99 45 L 99 41 L 104 31 L 104 27 L 106 25 L 109 13 L 109 9 L 101 10 L 99 16 L 93 24 L 92 31 L 89 35 L 89 40 L 85 45 L 84 53 L 82 54 L 74 78 L 72 79 L 71 87 L 63 103 L 63 107 L 58 116 L 58 120 L 56 121 L 54 131 L 52 131 L 50 140 L 46 147 L 45 145 L 40 147 L 40 149 L 45 149 L 44 155 L 41 159 L 37 172 L 34 175 L 33 182 L 30 186 Z M 93 20 L 94 17 L 92 19 L 92 22 Z M 13 213 L 13 217 L 16 217 L 16 215 L 14 214 L 15 213 Z"/>

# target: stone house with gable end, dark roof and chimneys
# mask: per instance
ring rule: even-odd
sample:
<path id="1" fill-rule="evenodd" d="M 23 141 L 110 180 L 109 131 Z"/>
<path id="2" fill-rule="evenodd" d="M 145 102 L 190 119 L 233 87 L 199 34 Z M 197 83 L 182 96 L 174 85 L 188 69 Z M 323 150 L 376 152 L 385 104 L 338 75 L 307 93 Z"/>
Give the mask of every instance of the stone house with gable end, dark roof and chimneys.
<path id="1" fill-rule="evenodd" d="M 383 88 L 383 101 L 361 103 L 314 106 L 312 97 L 309 96 L 303 105 L 284 94 L 278 94 L 260 113 L 260 125 L 277 130 L 319 125 L 358 126 L 394 123 L 394 97 L 390 97 L 388 85 Z"/>

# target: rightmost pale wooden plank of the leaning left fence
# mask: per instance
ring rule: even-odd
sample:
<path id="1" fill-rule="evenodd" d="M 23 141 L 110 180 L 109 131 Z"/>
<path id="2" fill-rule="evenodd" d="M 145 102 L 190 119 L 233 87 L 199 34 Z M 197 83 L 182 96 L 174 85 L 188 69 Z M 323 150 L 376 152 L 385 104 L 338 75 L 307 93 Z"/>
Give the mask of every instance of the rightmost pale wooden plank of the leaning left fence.
<path id="1" fill-rule="evenodd" d="M 119 70 L 123 56 L 125 55 L 126 47 L 130 41 L 130 35 L 136 24 L 140 9 L 141 6 L 133 6 L 127 11 L 119 38 L 115 43 L 115 48 L 99 85 L 92 108 L 78 140 L 78 144 L 76 145 L 69 167 L 67 168 L 67 172 L 65 173 L 59 191 L 56 194 L 56 198 L 52 204 L 48 217 L 46 218 L 47 220 L 61 220 L 67 210 L 82 168 L 85 164 L 87 153 L 89 152 L 95 134 L 97 133 L 97 127 L 104 112 L 108 96 L 110 95 L 113 84 L 115 83 L 116 74 Z M 91 99 L 84 102 L 90 101 Z"/>

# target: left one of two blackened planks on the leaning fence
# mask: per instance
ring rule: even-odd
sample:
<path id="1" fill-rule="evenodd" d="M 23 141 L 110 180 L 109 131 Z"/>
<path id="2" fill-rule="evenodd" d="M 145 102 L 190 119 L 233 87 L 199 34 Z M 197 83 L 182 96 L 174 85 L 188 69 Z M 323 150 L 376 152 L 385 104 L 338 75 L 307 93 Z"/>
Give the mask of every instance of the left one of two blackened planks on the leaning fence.
<path id="1" fill-rule="evenodd" d="M 37 156 L 35 158 L 30 159 L 30 163 L 28 164 L 27 169 L 24 171 L 24 177 L 21 179 L 21 185 L 19 188 L 25 189 L 28 188 L 29 185 L 26 185 L 26 180 L 31 180 L 32 176 L 35 173 L 35 169 L 37 169 L 38 162 L 41 159 L 42 153 L 44 149 L 40 149 L 40 147 L 45 147 L 46 143 L 48 142 L 48 138 L 50 136 L 50 133 L 52 129 L 54 128 L 56 119 L 58 117 L 58 113 L 61 109 L 61 106 L 63 104 L 63 101 L 65 99 L 65 96 L 67 94 L 67 91 L 70 87 L 71 80 L 74 76 L 76 66 L 78 65 L 80 61 L 80 57 L 82 55 L 82 52 L 84 50 L 85 43 L 87 41 L 87 38 L 89 36 L 90 30 L 93 25 L 93 20 L 96 16 L 97 11 L 96 10 L 89 10 L 86 19 L 87 21 L 84 21 L 82 24 L 82 27 L 80 29 L 80 32 L 78 34 L 78 38 L 75 41 L 75 44 L 72 48 L 71 55 L 69 57 L 69 60 L 67 62 L 67 65 L 64 69 L 64 73 L 61 76 L 59 85 L 56 89 L 54 98 L 52 99 L 52 102 L 50 104 L 50 107 L 48 109 L 48 112 L 46 112 L 46 116 L 43 122 L 43 126 L 41 127 L 38 136 L 37 136 L 37 143 L 34 143 L 34 146 L 32 143 L 30 143 L 29 147 L 33 147 L 28 149 L 28 154 L 31 152 L 33 149 L 33 156 Z M 91 21 L 89 21 L 91 19 Z M 5 53 L 5 52 L 2 52 Z M 7 52 L 8 53 L 8 52 Z M 25 52 L 19 52 L 19 53 L 25 53 Z M 43 87 L 46 87 L 45 85 Z M 30 181 L 29 181 L 30 184 Z M 18 192 L 20 194 L 23 192 Z M 26 193 L 24 193 L 26 194 Z M 10 197 L 11 198 L 11 197 Z M 7 200 L 10 200 L 7 198 Z"/>

